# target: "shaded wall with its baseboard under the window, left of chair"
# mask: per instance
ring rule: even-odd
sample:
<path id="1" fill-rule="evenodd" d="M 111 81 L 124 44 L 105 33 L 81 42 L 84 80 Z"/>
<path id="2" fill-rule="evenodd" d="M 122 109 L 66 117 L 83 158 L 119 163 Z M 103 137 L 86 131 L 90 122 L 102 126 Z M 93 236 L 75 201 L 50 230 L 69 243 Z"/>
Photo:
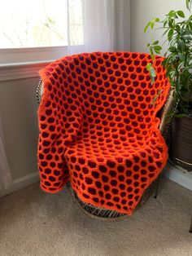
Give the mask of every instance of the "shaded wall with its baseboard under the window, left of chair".
<path id="1" fill-rule="evenodd" d="M 37 72 L 22 77 L 19 70 L 15 79 L 11 71 L 8 68 L 9 79 L 0 73 L 1 133 L 7 157 L 6 169 L 11 172 L 7 177 L 7 188 L 0 189 L 0 196 L 38 180 L 36 89 L 39 77 Z"/>

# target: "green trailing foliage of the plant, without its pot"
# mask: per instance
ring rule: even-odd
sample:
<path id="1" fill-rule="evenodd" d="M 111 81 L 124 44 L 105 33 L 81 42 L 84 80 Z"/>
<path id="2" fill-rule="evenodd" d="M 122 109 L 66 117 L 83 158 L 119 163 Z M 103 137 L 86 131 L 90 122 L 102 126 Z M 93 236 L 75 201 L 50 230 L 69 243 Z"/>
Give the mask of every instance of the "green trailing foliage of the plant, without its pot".
<path id="1" fill-rule="evenodd" d="M 186 7 L 190 10 L 192 0 L 185 0 Z M 158 23 L 159 27 L 155 26 Z M 144 29 L 163 29 L 163 37 L 168 43 L 168 51 L 164 53 L 166 57 L 162 65 L 166 68 L 166 75 L 175 89 L 174 98 L 179 102 L 180 114 L 192 113 L 192 15 L 185 17 L 181 10 L 171 10 L 165 15 L 164 20 L 159 21 L 154 18 L 146 24 Z M 158 40 L 154 40 L 152 35 L 151 43 L 147 44 L 152 62 L 146 65 L 146 69 L 151 76 L 151 84 L 155 82 L 155 55 L 160 54 L 162 45 Z M 158 95 L 155 95 L 152 104 L 155 104 Z"/>

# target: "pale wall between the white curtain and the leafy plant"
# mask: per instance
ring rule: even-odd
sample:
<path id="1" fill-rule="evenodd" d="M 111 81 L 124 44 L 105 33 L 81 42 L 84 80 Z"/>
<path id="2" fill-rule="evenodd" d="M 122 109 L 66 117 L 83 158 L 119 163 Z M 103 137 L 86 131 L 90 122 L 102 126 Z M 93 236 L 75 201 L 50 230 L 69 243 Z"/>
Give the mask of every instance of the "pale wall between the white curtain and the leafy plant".
<path id="1" fill-rule="evenodd" d="M 171 10 L 189 11 L 185 8 L 185 0 L 131 0 L 131 47 L 132 51 L 148 52 L 146 44 L 151 42 L 151 31 L 146 34 L 144 28 L 154 17 L 164 19 Z M 162 33 L 155 33 L 156 40 L 163 42 Z"/>

